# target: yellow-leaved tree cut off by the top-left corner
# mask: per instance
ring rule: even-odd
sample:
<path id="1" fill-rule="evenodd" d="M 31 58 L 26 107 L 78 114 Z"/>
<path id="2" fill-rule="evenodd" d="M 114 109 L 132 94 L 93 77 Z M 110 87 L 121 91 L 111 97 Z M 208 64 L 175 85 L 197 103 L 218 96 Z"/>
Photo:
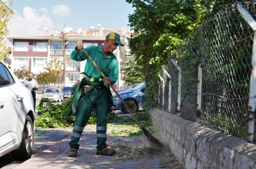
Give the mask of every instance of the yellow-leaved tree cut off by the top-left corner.
<path id="1" fill-rule="evenodd" d="M 4 57 L 9 53 L 6 50 L 6 36 L 8 35 L 7 22 L 10 20 L 10 17 L 13 15 L 10 7 L 13 4 L 11 0 L 10 6 L 7 6 L 7 0 L 0 1 L 0 60 L 4 60 Z"/>

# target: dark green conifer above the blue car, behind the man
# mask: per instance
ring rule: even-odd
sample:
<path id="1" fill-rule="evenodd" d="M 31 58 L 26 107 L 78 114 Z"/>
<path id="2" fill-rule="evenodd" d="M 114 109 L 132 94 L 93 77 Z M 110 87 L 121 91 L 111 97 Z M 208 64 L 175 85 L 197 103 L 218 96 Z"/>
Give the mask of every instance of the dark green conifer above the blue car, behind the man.
<path id="1" fill-rule="evenodd" d="M 127 63 L 121 63 L 120 65 L 126 66 L 125 69 L 121 69 L 122 74 L 124 75 L 124 81 L 126 86 L 132 84 L 144 82 L 144 76 L 141 73 L 142 66 L 137 65 L 137 62 L 134 61 L 134 58 L 131 56 L 121 56 L 122 59 L 127 59 Z"/>

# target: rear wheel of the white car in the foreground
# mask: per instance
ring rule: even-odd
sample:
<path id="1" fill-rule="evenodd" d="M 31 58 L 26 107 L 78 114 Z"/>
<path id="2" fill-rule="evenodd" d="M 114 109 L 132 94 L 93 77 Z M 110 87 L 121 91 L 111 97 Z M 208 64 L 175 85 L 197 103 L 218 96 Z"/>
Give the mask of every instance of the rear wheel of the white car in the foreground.
<path id="1" fill-rule="evenodd" d="M 30 159 L 34 147 L 34 124 L 29 116 L 26 116 L 25 126 L 22 132 L 20 147 L 11 152 L 14 160 Z"/>

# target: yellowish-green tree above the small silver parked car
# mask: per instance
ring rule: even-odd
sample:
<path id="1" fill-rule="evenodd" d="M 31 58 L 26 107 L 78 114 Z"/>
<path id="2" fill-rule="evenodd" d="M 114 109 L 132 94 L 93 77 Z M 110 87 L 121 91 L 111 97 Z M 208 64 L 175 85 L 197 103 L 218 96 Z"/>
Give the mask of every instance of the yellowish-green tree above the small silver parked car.
<path id="1" fill-rule="evenodd" d="M 52 61 L 46 61 L 44 72 L 40 72 L 40 74 L 36 76 L 38 84 L 46 84 L 49 86 L 50 83 L 56 83 L 57 78 L 63 75 L 63 64 L 64 61 L 57 55 L 53 56 Z"/>

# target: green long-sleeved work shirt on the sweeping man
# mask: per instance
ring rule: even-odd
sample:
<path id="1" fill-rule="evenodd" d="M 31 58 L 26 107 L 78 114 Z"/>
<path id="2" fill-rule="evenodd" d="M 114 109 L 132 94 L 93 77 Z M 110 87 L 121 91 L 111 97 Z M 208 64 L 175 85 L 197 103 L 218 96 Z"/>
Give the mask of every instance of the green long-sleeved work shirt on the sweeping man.
<path id="1" fill-rule="evenodd" d="M 102 73 L 109 77 L 111 80 L 111 85 L 114 85 L 118 79 L 119 73 L 119 65 L 118 61 L 113 53 L 110 56 L 105 56 L 102 52 L 102 46 L 88 46 L 85 48 L 85 51 L 89 54 L 89 56 L 93 59 Z M 96 69 L 93 63 L 88 59 L 88 56 L 84 53 L 83 50 L 78 51 L 74 49 L 71 53 L 71 59 L 75 61 L 84 61 L 87 60 L 84 73 L 88 76 L 92 76 L 94 78 L 103 78 L 100 72 Z M 99 85 L 101 82 L 86 82 L 90 85 Z M 104 82 L 106 87 L 110 87 L 106 82 Z"/>

